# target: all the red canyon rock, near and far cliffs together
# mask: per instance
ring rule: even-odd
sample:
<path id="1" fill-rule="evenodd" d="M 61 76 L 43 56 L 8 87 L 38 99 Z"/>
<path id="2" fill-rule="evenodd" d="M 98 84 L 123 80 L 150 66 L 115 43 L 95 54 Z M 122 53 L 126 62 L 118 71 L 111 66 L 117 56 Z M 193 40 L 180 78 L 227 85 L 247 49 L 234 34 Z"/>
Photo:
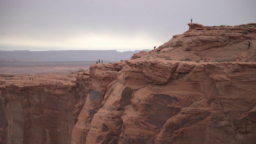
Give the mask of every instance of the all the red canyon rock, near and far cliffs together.
<path id="1" fill-rule="evenodd" d="M 0 144 L 255 144 L 256 24 L 188 26 L 86 72 L 0 75 Z"/>

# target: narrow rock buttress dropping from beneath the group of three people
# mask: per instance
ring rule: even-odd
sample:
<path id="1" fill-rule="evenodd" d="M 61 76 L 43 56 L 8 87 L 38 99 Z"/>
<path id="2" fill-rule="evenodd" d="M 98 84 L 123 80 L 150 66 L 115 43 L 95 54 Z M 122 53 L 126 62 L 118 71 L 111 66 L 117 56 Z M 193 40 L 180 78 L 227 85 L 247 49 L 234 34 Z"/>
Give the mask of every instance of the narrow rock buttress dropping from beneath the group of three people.
<path id="1" fill-rule="evenodd" d="M 123 63 L 123 62 L 122 62 Z M 85 143 L 94 114 L 102 107 L 108 85 L 116 80 L 122 63 L 93 64 L 90 66 L 89 94 L 72 131 L 72 143 Z"/>

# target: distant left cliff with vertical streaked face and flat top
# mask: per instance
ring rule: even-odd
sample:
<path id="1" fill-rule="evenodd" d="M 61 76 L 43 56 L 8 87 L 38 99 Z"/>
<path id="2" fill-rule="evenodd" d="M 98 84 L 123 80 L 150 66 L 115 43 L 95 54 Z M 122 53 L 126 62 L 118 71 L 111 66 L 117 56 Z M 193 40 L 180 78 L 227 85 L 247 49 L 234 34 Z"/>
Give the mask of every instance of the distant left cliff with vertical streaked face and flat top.
<path id="1" fill-rule="evenodd" d="M 0 87 L 1 144 L 71 143 L 72 110 L 79 102 L 70 82 L 75 78 L 44 77 L 1 76 L 6 84 Z"/>

